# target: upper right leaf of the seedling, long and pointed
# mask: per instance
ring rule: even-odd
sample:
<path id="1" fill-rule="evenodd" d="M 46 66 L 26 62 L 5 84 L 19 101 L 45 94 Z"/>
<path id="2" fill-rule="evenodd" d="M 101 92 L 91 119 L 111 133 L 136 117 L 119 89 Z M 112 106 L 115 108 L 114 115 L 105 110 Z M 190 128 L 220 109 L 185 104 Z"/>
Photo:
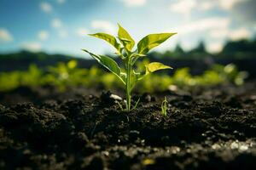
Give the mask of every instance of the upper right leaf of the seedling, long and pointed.
<path id="1" fill-rule="evenodd" d="M 172 37 L 176 33 L 160 33 L 149 34 L 137 43 L 137 50 L 139 54 L 147 54 L 152 48 L 159 46 L 162 42 L 165 42 L 169 37 Z"/>

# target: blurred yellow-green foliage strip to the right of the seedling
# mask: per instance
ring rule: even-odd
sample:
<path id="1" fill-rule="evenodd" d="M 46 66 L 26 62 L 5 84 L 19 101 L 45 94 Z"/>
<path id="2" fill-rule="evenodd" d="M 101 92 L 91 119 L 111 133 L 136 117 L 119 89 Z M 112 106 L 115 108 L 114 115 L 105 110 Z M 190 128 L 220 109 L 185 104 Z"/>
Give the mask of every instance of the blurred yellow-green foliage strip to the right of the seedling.
<path id="1" fill-rule="evenodd" d="M 144 64 L 145 62 L 147 63 L 147 61 L 143 62 Z M 136 90 L 140 92 L 155 92 L 155 90 L 163 91 L 168 89 L 172 84 L 179 88 L 214 86 L 221 83 L 233 83 L 238 86 L 242 85 L 247 77 L 247 72 L 237 71 L 236 68 L 228 74 L 227 70 L 232 70 L 230 69 L 230 65 L 212 65 L 212 69 L 207 70 L 202 75 L 198 76 L 192 76 L 189 73 L 189 68 L 186 67 L 177 69 L 172 77 L 168 75 L 148 75 L 148 77 L 145 77 L 141 82 L 138 82 Z M 138 63 L 138 68 L 140 67 L 141 64 Z M 217 67 L 222 69 L 217 69 Z"/>

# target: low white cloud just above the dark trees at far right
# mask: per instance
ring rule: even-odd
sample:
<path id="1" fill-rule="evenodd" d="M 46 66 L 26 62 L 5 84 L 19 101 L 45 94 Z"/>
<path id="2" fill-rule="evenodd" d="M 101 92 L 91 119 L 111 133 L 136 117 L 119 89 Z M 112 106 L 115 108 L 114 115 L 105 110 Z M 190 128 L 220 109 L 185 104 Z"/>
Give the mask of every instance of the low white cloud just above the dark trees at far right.
<path id="1" fill-rule="evenodd" d="M 229 38 L 230 40 L 236 41 L 243 38 L 251 37 L 251 32 L 248 31 L 246 28 L 239 28 L 237 30 L 229 30 L 226 29 L 218 29 L 210 31 L 210 37 L 213 38 Z"/>

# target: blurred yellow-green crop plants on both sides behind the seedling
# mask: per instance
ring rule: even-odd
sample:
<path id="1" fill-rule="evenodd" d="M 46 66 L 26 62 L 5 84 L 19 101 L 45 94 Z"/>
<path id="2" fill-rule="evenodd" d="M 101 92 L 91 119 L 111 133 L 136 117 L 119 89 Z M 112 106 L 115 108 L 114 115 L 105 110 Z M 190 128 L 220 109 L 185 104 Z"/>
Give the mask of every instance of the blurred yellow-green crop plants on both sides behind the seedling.
<path id="1" fill-rule="evenodd" d="M 143 60 L 137 64 L 137 70 L 143 71 L 143 65 L 148 60 Z M 90 69 L 77 67 L 76 60 L 67 63 L 60 62 L 55 66 L 48 66 L 46 69 L 39 69 L 37 65 L 30 65 L 27 71 L 0 72 L 0 91 L 9 91 L 21 86 L 37 87 L 52 85 L 60 91 L 65 91 L 67 87 L 82 86 L 84 88 L 120 89 L 122 83 L 112 73 L 96 66 Z M 158 92 L 173 87 L 198 87 L 215 86 L 223 83 L 232 83 L 237 86 L 242 85 L 247 72 L 239 71 L 234 64 L 212 65 L 212 68 L 201 75 L 192 76 L 189 68 L 179 68 L 172 70 L 174 74 L 168 75 L 170 71 L 160 71 L 158 74 L 148 75 L 138 82 L 135 91 Z"/>

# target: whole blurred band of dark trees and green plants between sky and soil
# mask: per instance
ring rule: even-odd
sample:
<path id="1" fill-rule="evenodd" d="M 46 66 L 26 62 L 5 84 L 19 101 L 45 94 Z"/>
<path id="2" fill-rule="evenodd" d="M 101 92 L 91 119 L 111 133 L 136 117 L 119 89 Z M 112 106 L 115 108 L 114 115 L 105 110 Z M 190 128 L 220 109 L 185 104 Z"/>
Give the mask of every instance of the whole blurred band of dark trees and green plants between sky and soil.
<path id="1" fill-rule="evenodd" d="M 245 79 L 255 78 L 256 41 L 227 42 L 218 54 L 210 54 L 201 42 L 198 47 L 183 51 L 179 45 L 173 51 L 153 52 L 138 62 L 144 64 L 160 60 L 174 65 L 173 71 L 160 71 L 149 75 L 137 84 L 138 92 L 155 92 L 167 89 L 197 86 L 214 86 L 223 83 L 242 85 Z M 122 88 L 119 79 L 92 59 L 74 59 L 63 55 L 48 55 L 22 51 L 16 54 L 1 54 L 0 91 L 22 86 L 52 85 L 60 91 L 68 87 Z M 119 62 L 118 58 L 114 58 Z M 240 68 L 240 70 L 238 69 Z M 241 70 L 242 68 L 242 70 Z"/>

